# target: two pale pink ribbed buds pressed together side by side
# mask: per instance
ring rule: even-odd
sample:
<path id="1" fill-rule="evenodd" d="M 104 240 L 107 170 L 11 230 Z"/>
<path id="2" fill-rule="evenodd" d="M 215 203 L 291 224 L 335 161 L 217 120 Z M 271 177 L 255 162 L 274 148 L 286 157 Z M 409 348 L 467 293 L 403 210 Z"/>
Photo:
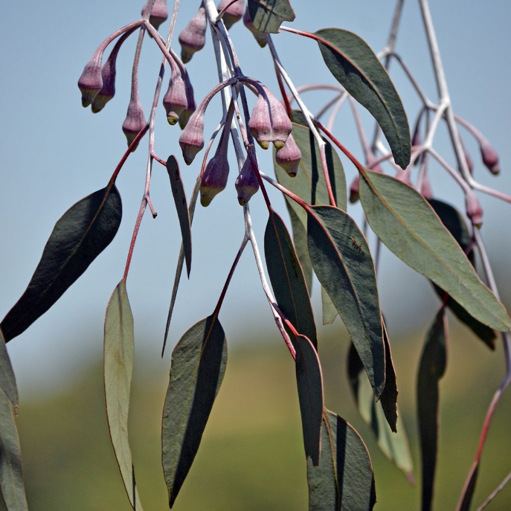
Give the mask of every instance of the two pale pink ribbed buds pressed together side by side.
<path id="1" fill-rule="evenodd" d="M 273 142 L 275 149 L 284 147 L 293 125 L 289 120 L 286 109 L 280 101 L 273 96 L 267 87 L 263 87 L 255 102 L 248 128 L 257 143 L 268 149 L 269 143 Z"/>

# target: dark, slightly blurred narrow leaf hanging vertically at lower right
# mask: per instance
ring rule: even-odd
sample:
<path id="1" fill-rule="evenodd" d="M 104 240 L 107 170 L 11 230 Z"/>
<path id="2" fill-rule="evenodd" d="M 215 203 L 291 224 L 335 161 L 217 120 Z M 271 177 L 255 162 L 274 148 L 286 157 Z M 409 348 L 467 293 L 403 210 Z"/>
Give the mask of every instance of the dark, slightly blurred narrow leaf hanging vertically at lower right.
<path id="1" fill-rule="evenodd" d="M 429 329 L 417 376 L 417 420 L 422 457 L 422 510 L 433 504 L 433 487 L 438 449 L 438 381 L 447 363 L 447 318 L 441 310 Z"/>

